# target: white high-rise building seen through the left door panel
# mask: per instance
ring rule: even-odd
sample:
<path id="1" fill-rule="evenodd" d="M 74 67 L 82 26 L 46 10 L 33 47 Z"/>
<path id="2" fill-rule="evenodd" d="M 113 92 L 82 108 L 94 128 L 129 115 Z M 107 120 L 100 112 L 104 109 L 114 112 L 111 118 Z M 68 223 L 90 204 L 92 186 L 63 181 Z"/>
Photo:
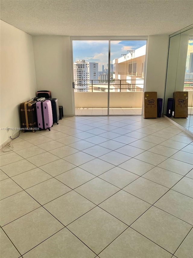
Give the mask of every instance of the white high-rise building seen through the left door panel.
<path id="1" fill-rule="evenodd" d="M 78 60 L 74 62 L 75 91 L 89 91 L 89 84 L 96 84 L 98 79 L 98 63 Z"/>

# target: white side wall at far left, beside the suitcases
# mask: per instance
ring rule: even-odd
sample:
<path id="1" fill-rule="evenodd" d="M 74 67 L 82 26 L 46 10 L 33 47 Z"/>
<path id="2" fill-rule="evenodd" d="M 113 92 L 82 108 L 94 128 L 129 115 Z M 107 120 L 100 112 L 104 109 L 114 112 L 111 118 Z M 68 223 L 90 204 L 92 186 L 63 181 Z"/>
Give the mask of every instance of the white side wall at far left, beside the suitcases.
<path id="1" fill-rule="evenodd" d="M 21 127 L 19 104 L 35 96 L 36 75 L 32 37 L 0 21 L 1 26 L 1 122 L 0 127 Z M 16 133 L 17 131 L 14 131 Z M 0 130 L 0 145 L 12 131 Z"/>

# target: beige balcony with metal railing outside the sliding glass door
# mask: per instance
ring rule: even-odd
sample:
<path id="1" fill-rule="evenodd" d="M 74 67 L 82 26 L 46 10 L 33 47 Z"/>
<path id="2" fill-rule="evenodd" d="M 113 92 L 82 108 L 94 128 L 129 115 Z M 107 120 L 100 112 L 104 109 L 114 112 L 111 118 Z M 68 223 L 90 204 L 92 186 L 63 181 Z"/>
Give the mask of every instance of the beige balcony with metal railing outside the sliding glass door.
<path id="1" fill-rule="evenodd" d="M 76 115 L 107 114 L 108 83 L 103 80 L 88 80 L 90 84 L 74 83 L 74 102 Z M 117 83 L 118 82 L 118 83 Z M 129 86 L 125 80 L 110 80 L 109 113 L 111 115 L 140 115 L 143 88 Z"/>

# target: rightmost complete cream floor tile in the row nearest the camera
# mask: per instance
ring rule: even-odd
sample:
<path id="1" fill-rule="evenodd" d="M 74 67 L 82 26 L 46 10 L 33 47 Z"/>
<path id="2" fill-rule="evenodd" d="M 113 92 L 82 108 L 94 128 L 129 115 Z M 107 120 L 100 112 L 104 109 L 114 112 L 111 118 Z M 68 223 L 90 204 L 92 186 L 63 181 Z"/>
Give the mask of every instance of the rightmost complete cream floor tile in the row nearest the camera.
<path id="1" fill-rule="evenodd" d="M 150 207 L 131 228 L 174 253 L 191 229 L 191 225 L 164 212 Z"/>

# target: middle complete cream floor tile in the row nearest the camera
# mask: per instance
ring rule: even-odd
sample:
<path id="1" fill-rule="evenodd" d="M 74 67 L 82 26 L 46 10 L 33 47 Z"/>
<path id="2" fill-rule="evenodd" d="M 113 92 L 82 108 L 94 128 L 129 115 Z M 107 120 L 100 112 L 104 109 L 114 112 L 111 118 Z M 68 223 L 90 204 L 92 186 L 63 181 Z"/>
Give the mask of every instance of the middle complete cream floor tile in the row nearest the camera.
<path id="1" fill-rule="evenodd" d="M 98 254 L 118 237 L 127 225 L 101 208 L 95 207 L 67 228 Z"/>

